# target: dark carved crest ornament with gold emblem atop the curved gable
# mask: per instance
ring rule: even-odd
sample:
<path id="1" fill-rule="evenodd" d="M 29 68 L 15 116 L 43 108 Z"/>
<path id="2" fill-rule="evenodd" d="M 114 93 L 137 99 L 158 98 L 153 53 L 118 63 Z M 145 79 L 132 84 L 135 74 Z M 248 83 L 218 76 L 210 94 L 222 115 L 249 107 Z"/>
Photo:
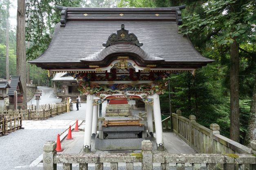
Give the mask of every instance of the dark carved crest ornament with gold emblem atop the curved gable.
<path id="1" fill-rule="evenodd" d="M 116 31 L 116 33 L 112 33 L 107 42 L 103 43 L 102 46 L 108 47 L 111 44 L 115 42 L 120 42 L 120 41 L 129 41 L 131 43 L 134 43 L 136 46 L 140 47 L 143 45 L 143 43 L 140 43 L 137 36 L 134 35 L 134 33 L 129 33 L 129 30 L 125 29 L 125 24 L 121 25 L 121 29 Z"/>

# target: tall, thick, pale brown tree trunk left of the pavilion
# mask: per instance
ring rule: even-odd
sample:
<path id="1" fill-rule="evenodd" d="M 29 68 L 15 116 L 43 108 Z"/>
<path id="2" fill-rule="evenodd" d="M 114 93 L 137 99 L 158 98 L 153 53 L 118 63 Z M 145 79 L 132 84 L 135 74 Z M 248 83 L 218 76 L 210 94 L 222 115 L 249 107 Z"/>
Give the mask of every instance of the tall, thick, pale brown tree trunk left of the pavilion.
<path id="1" fill-rule="evenodd" d="M 23 106 L 27 109 L 27 87 L 26 87 L 26 41 L 25 41 L 25 11 L 26 0 L 18 0 L 17 7 L 17 33 L 16 33 L 16 55 L 17 55 L 17 74 L 23 88 Z"/>

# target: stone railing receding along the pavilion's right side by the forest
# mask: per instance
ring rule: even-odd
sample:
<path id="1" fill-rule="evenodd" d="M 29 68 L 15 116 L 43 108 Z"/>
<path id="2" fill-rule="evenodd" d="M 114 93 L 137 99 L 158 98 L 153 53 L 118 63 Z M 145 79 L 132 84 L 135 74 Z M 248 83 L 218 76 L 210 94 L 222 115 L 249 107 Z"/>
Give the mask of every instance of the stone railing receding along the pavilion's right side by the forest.
<path id="1" fill-rule="evenodd" d="M 245 153 L 250 154 L 248 148 L 223 135 L 220 135 L 218 124 L 211 124 L 210 129 L 196 122 L 196 117 L 190 115 L 189 119 L 181 116 L 181 112 L 172 113 L 173 132 L 178 135 L 197 153 Z"/>

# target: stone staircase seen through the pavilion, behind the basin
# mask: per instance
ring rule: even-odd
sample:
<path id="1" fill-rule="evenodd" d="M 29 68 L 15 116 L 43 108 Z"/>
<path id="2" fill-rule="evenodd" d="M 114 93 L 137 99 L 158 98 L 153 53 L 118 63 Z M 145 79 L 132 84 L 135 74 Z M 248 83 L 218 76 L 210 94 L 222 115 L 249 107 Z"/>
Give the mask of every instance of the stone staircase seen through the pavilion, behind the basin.
<path id="1" fill-rule="evenodd" d="M 128 104 L 107 105 L 105 116 L 131 116 L 131 106 Z"/>

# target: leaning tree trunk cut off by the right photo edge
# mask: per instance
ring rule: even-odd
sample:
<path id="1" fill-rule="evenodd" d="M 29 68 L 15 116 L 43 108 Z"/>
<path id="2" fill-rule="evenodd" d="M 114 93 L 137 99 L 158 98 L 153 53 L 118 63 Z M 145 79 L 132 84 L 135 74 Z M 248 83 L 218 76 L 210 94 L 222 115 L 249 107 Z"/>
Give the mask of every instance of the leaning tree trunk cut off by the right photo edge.
<path id="1" fill-rule="evenodd" d="M 256 78 L 255 78 L 256 80 Z M 254 83 L 252 102 L 250 107 L 250 118 L 248 121 L 248 131 L 245 136 L 245 144 L 249 144 L 252 140 L 256 140 L 256 81 Z"/>

